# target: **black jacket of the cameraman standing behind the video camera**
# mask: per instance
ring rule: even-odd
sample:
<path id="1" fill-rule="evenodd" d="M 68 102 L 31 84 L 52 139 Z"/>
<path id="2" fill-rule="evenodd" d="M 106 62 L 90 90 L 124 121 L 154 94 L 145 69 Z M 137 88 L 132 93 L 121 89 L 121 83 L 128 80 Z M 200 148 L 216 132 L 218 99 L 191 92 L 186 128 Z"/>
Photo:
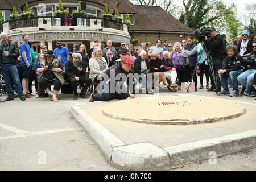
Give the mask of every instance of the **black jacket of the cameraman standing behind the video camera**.
<path id="1" fill-rule="evenodd" d="M 224 59 L 224 43 L 220 35 L 216 35 L 213 39 L 205 41 L 212 58 Z"/>

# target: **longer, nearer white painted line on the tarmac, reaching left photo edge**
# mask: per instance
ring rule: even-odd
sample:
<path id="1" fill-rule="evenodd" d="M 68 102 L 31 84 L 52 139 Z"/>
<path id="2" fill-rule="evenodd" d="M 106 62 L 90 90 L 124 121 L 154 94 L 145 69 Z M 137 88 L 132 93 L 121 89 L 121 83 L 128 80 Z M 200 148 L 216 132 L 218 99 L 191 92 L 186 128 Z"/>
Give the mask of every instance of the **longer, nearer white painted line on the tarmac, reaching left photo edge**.
<path id="1" fill-rule="evenodd" d="M 51 134 L 51 133 L 59 133 L 59 132 L 72 131 L 72 130 L 75 130 L 75 129 L 74 128 L 64 128 L 64 129 L 51 129 L 51 130 L 26 132 L 26 133 L 19 134 L 19 135 L 0 137 L 0 140 L 11 139 L 11 138 L 19 138 L 19 137 L 30 137 L 30 136 L 33 136 L 33 135 L 44 135 L 44 134 Z"/>

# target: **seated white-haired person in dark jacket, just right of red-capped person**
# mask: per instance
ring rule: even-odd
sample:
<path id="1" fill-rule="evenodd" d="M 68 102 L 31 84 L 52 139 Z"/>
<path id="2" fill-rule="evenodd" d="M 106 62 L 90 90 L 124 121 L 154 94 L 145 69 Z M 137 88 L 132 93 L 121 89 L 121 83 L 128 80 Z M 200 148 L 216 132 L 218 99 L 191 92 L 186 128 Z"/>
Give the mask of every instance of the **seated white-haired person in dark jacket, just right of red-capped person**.
<path id="1" fill-rule="evenodd" d="M 144 79 L 146 82 L 142 79 L 142 85 L 147 90 L 146 94 L 154 94 L 154 91 L 151 89 L 151 83 L 147 81 L 147 73 L 150 72 L 150 65 L 146 57 L 146 51 L 142 50 L 139 53 L 139 56 L 134 60 L 134 73 L 138 73 L 139 76 L 146 77 L 146 79 Z"/>

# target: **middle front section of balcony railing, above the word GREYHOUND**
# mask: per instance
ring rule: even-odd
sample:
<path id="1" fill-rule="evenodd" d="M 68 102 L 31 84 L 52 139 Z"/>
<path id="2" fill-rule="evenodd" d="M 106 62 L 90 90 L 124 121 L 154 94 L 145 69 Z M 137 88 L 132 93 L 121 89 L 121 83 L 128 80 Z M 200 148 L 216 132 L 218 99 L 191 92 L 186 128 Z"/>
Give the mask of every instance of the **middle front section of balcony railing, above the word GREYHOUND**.
<path id="1" fill-rule="evenodd" d="M 52 18 L 52 26 L 90 26 L 88 18 Z"/>

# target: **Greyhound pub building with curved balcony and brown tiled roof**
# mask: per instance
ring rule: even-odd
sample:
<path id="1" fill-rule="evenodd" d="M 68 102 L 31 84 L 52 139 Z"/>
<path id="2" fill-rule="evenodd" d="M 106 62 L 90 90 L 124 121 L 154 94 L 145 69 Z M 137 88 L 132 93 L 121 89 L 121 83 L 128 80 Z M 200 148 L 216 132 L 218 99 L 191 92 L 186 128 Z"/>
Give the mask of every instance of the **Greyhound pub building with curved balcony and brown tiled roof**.
<path id="1" fill-rule="evenodd" d="M 69 15 L 73 10 L 78 10 L 77 0 L 62 0 Z M 20 16 L 18 19 L 11 17 L 13 7 L 19 14 L 25 12 L 26 3 L 31 17 Z M 181 42 L 182 39 L 193 35 L 193 29 L 185 26 L 172 15 L 159 6 L 133 5 L 129 0 L 81 0 L 81 10 L 87 16 L 55 16 L 59 9 L 59 0 L 0 0 L 0 11 L 3 21 L 0 31 L 4 31 L 13 41 L 22 42 L 22 34 L 30 35 L 30 42 L 34 50 L 39 53 L 40 46 L 45 44 L 48 49 L 56 48 L 56 40 L 61 40 L 63 46 L 73 51 L 74 44 L 85 44 L 86 49 L 92 48 L 97 41 L 102 48 L 106 40 L 112 40 L 113 47 L 119 49 L 120 43 L 135 44 L 139 48 L 142 42 L 151 42 L 161 38 L 168 39 L 171 43 Z M 115 8 L 123 20 L 102 18 L 104 5 L 108 5 L 109 14 L 114 15 Z M 126 16 L 129 15 L 129 24 Z M 23 18 L 22 18 L 23 17 Z M 134 39 L 138 41 L 133 41 Z"/>

